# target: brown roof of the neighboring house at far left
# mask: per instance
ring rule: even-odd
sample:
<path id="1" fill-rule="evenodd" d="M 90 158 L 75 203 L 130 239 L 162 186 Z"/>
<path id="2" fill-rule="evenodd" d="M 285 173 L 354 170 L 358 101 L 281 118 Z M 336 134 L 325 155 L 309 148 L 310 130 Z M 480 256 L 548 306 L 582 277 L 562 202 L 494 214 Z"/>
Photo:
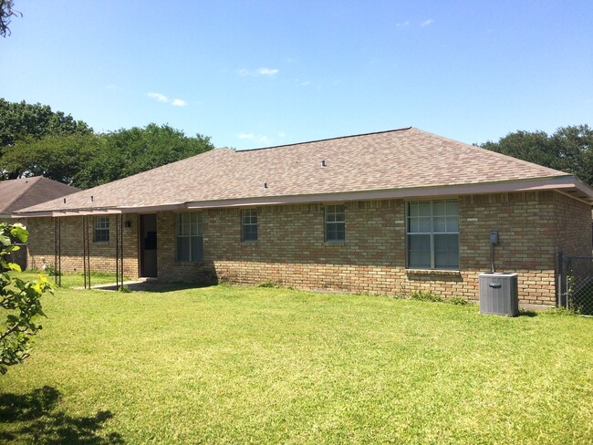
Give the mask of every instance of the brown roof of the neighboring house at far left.
<path id="1" fill-rule="evenodd" d="M 12 212 L 54 200 L 80 191 L 43 176 L 0 181 L 0 216 L 10 217 Z"/>

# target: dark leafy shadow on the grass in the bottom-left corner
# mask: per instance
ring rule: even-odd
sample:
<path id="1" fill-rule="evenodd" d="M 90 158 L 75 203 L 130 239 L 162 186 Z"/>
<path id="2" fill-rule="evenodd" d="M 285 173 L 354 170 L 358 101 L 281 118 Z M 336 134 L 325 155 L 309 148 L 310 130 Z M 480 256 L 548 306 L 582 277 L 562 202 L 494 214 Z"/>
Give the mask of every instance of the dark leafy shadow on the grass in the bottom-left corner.
<path id="1" fill-rule="evenodd" d="M 0 442 L 75 445 L 123 444 L 117 432 L 99 436 L 103 423 L 113 417 L 98 411 L 93 417 L 72 417 L 57 410 L 61 394 L 56 388 L 36 388 L 27 394 L 0 393 Z"/>

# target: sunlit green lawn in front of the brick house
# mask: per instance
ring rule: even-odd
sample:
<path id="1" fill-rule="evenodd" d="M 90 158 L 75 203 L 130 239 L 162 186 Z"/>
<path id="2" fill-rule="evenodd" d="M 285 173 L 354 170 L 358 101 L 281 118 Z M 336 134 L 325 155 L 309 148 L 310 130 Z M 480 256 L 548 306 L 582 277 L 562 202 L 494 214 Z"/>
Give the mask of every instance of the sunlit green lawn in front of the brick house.
<path id="1" fill-rule="evenodd" d="M 590 318 L 227 285 L 44 298 L 0 442 L 593 442 Z"/>

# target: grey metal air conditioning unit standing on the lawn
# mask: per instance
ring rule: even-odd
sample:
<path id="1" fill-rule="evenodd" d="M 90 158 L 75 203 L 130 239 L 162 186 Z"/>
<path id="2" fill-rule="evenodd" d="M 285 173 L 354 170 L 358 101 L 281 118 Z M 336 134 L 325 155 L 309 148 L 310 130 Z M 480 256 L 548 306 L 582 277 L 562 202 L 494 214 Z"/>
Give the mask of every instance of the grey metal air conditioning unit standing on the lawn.
<path id="1" fill-rule="evenodd" d="M 480 274 L 480 314 L 519 315 L 517 274 Z"/>

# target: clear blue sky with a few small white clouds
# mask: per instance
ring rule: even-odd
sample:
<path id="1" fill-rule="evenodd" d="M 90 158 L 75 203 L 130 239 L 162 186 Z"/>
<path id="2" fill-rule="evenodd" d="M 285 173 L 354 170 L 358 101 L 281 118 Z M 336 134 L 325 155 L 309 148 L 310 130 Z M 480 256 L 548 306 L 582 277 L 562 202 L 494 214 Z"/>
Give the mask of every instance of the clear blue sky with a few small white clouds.
<path id="1" fill-rule="evenodd" d="M 593 125 L 593 2 L 15 0 L 0 97 L 246 149 Z"/>

